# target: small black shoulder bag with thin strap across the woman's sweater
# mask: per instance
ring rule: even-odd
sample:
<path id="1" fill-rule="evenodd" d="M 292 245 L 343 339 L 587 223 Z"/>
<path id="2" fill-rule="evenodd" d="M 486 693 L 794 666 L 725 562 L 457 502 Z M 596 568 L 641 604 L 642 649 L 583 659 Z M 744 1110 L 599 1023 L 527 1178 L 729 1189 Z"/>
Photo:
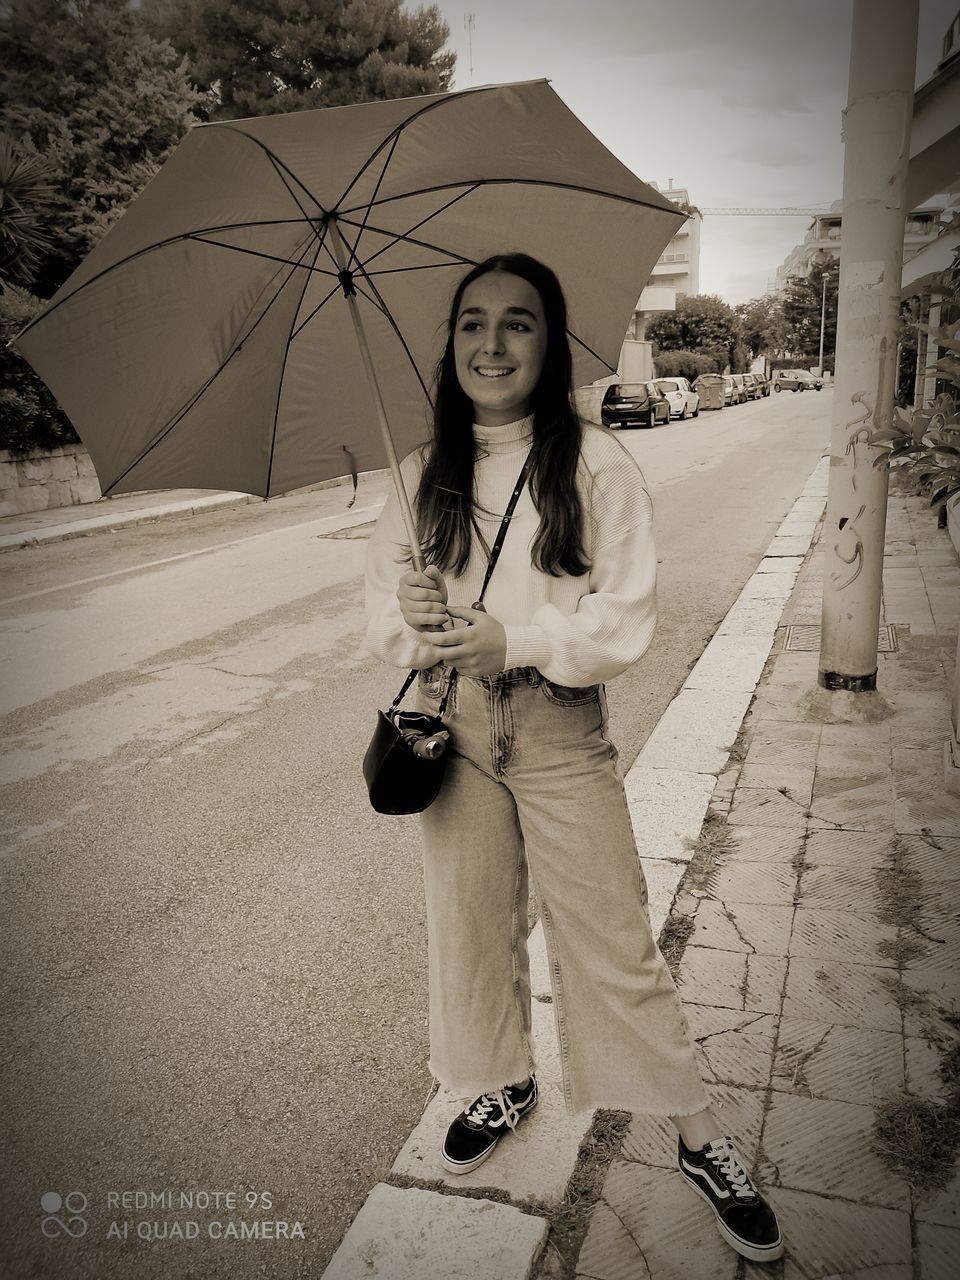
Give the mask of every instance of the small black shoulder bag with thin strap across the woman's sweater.
<path id="1" fill-rule="evenodd" d="M 520 472 L 503 513 L 490 558 L 486 562 L 484 585 L 474 604 L 475 609 L 483 608 L 486 586 L 500 554 L 503 539 L 507 536 L 517 499 L 526 483 L 530 462 L 531 456 L 527 454 L 524 470 Z M 447 710 L 457 669 L 454 667 L 451 671 L 447 691 L 436 708 L 436 716 L 399 710 L 403 695 L 419 675 L 416 668 L 411 671 L 388 709 L 376 713 L 376 728 L 364 755 L 364 780 L 370 794 L 370 804 L 378 813 L 422 813 L 436 799 L 447 771 L 447 748 L 451 733 L 443 723 L 443 713 Z"/>

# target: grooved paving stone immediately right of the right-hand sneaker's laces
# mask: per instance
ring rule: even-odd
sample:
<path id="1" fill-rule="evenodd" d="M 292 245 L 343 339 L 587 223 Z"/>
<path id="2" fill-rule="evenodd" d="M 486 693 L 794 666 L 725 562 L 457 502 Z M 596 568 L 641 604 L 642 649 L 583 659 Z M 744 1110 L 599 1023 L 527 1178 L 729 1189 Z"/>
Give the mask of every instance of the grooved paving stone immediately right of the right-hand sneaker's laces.
<path id="1" fill-rule="evenodd" d="M 781 1187 L 909 1210 L 906 1183 L 873 1152 L 873 1107 L 774 1093 L 763 1126 L 764 1155 Z"/>

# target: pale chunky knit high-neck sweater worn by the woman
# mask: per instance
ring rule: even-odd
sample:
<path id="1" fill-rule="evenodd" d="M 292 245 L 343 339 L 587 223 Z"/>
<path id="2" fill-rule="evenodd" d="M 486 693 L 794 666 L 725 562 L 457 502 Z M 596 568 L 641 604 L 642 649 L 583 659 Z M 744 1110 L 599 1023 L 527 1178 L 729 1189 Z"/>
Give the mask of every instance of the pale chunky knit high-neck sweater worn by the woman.
<path id="1" fill-rule="evenodd" d="M 530 449 L 532 417 L 497 428 L 475 425 L 474 436 L 481 445 L 475 512 L 493 545 Z M 421 467 L 419 451 L 401 463 L 411 500 Z M 590 570 L 580 577 L 552 577 L 534 568 L 530 547 L 539 516 L 525 486 L 484 605 L 507 632 L 504 669 L 536 667 L 556 684 L 582 686 L 618 676 L 649 648 L 657 623 L 657 554 L 650 494 L 634 457 L 611 431 L 584 426 L 577 489 L 586 513 Z M 384 662 L 422 669 L 438 660 L 438 653 L 399 611 L 397 585 L 410 568 L 407 547 L 399 503 L 390 492 L 367 549 L 367 645 Z M 444 575 L 449 603 L 471 605 L 485 568 L 486 556 L 475 539 L 463 575 Z"/>

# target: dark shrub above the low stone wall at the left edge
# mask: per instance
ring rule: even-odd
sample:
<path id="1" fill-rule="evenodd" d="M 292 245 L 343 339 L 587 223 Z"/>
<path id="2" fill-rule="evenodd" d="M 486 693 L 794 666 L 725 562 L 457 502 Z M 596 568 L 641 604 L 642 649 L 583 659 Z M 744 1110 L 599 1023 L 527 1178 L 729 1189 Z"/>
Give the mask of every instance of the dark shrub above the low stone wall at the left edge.
<path id="1" fill-rule="evenodd" d="M 13 284 L 0 293 L 0 449 L 20 456 L 79 439 L 46 384 L 6 346 L 44 305 Z"/>

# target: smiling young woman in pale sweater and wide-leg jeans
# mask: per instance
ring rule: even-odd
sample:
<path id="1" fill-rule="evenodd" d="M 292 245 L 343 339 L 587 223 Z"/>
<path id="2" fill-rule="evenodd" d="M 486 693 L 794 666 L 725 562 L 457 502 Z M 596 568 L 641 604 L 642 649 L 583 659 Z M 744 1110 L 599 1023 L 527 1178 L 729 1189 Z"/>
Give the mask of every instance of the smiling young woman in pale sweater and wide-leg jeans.
<path id="1" fill-rule="evenodd" d="M 709 1110 L 650 931 L 603 681 L 653 637 L 652 504 L 632 456 L 576 416 L 566 303 L 547 266 L 507 253 L 461 280 L 433 440 L 402 471 L 429 567 L 410 568 L 392 495 L 370 540 L 367 641 L 385 662 L 420 669 L 424 710 L 436 710 L 456 668 L 447 776 L 421 814 L 430 1069 L 476 1098 L 451 1124 L 442 1164 L 476 1169 L 536 1105 L 529 867 L 567 1108 L 668 1115 L 680 1171 L 723 1238 L 745 1257 L 777 1258 L 776 1216 Z"/>

